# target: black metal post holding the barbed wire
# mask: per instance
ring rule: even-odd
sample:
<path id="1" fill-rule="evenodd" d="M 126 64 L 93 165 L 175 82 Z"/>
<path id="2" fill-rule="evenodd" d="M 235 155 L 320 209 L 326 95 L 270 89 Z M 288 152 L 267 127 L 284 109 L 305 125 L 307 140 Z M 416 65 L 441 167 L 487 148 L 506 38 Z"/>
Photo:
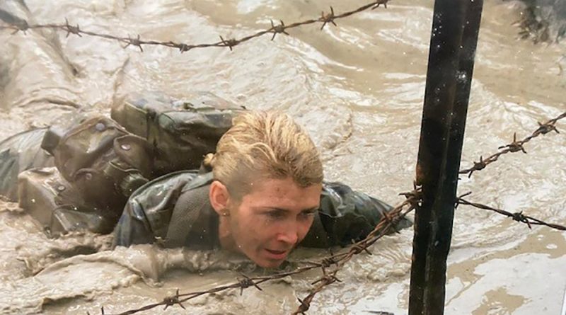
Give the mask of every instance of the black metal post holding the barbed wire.
<path id="1" fill-rule="evenodd" d="M 483 0 L 436 0 L 417 161 L 410 315 L 444 314 L 446 257 Z"/>

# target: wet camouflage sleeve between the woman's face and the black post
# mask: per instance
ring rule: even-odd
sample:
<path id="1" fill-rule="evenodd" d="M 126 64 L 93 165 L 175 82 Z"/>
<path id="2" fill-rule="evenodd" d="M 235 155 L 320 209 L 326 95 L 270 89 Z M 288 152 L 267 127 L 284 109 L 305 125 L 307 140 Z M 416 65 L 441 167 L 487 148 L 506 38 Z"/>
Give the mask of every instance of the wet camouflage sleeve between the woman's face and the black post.
<path id="1" fill-rule="evenodd" d="M 360 241 L 392 209 L 391 205 L 342 183 L 323 183 L 318 216 L 301 246 L 324 248 Z M 409 219 L 403 218 L 396 229 L 411 225 Z"/>

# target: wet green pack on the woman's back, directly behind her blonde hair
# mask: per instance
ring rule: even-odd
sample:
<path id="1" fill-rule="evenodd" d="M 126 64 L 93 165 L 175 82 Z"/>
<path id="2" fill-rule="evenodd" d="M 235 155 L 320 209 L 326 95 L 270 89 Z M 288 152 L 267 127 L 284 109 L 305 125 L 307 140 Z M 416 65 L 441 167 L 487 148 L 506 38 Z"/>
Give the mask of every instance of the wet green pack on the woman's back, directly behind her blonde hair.
<path id="1" fill-rule="evenodd" d="M 202 157 L 232 126 L 241 106 L 209 92 L 173 99 L 157 92 L 131 93 L 112 107 L 111 117 L 154 147 L 158 175 L 200 166 Z"/>

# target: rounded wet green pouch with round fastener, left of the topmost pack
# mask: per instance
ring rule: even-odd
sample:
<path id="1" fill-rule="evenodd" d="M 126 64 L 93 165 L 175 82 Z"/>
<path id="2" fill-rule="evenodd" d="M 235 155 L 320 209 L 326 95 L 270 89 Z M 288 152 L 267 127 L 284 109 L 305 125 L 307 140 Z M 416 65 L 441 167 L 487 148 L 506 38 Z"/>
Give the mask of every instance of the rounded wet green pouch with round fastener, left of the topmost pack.
<path id="1" fill-rule="evenodd" d="M 47 132 L 42 147 L 63 178 L 98 208 L 120 216 L 129 195 L 155 178 L 151 145 L 110 118 L 90 118 L 60 137 L 52 134 Z"/>

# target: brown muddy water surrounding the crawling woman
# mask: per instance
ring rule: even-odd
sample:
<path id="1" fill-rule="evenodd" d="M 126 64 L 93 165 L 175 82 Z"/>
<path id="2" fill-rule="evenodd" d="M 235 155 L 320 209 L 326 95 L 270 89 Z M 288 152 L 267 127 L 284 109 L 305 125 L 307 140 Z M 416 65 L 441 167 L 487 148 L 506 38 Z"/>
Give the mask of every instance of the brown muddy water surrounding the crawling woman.
<path id="1" fill-rule="evenodd" d="M 29 0 L 0 8 L 37 23 L 155 40 L 213 42 L 275 21 L 342 12 L 364 1 L 322 0 Z M 475 59 L 462 166 L 566 109 L 565 45 L 516 40 L 520 6 L 487 1 Z M 395 1 L 379 9 L 261 38 L 233 52 L 212 48 L 180 55 L 166 47 L 122 49 L 116 42 L 64 33 L 0 33 L 0 138 L 69 119 L 105 113 L 129 91 L 205 90 L 255 109 L 284 110 L 306 125 L 323 153 L 325 176 L 391 203 L 412 187 L 432 1 Z M 561 65 L 561 67 L 560 67 Z M 560 122 L 559 130 L 565 123 Z M 548 134 L 529 154 L 503 156 L 470 179 L 470 200 L 566 224 L 566 138 Z M 111 236 L 47 239 L 8 202 L 0 211 L 0 313 L 116 313 L 161 301 L 177 288 L 205 290 L 258 270 L 229 253 L 134 246 L 108 251 Z M 341 283 L 316 297 L 313 314 L 406 314 L 412 231 L 389 236 L 354 258 Z M 321 256 L 297 251 L 296 260 Z M 316 274 L 214 294 L 157 314 L 288 314 Z M 565 234 L 532 230 L 497 214 L 460 207 L 449 255 L 446 314 L 558 314 L 566 289 Z M 150 311 L 149 314 L 155 314 Z"/>

